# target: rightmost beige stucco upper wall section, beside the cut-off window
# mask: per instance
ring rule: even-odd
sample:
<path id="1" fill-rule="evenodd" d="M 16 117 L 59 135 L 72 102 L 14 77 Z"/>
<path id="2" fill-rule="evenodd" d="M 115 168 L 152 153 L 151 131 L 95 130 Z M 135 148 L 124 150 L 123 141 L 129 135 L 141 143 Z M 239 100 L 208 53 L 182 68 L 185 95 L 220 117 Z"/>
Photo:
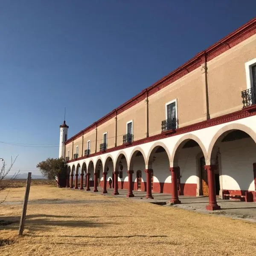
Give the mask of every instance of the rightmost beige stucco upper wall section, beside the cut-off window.
<path id="1" fill-rule="evenodd" d="M 247 89 L 245 62 L 256 58 L 256 35 L 208 62 L 210 117 L 241 110 Z"/>

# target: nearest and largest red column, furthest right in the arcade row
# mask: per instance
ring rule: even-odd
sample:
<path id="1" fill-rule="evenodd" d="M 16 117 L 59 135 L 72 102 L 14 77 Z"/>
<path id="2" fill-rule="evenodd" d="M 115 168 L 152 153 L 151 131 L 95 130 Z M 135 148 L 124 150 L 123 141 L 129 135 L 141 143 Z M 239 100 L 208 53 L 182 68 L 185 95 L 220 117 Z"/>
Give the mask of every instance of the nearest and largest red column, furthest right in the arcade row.
<path id="1" fill-rule="evenodd" d="M 209 165 L 204 166 L 204 169 L 207 171 L 208 179 L 208 190 L 209 190 L 209 204 L 206 206 L 207 210 L 219 210 L 221 207 L 217 204 L 216 201 L 216 188 L 215 188 L 215 166 Z"/>

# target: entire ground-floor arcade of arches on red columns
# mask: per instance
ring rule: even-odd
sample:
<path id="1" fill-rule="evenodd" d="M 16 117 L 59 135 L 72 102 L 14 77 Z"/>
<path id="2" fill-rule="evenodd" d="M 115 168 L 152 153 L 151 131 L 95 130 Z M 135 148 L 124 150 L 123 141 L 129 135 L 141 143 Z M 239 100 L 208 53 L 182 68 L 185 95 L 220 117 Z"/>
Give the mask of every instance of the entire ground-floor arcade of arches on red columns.
<path id="1" fill-rule="evenodd" d="M 180 195 L 209 196 L 207 209 L 220 209 L 216 195 L 220 198 L 256 201 L 256 143 L 250 135 L 231 129 L 216 134 L 209 145 L 185 138 L 175 145 L 171 155 L 162 143 L 155 143 L 145 157 L 137 148 L 128 159 L 120 152 L 116 161 L 111 154 L 103 163 L 99 157 L 94 165 L 91 160 L 68 166 L 67 187 L 108 193 L 113 180 L 113 195 L 119 189 L 128 189 L 127 197 L 134 197 L 133 191 L 145 191 L 146 198 L 154 193 L 169 193 L 171 201 L 179 204 Z M 93 188 L 90 188 L 93 187 Z"/>

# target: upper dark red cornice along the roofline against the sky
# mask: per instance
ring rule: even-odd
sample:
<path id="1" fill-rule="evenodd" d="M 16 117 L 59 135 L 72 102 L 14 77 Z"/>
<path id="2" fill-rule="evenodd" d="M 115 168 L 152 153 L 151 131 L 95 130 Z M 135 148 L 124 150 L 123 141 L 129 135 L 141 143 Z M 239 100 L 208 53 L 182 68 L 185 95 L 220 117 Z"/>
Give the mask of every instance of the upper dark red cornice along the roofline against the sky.
<path id="1" fill-rule="evenodd" d="M 241 43 L 242 41 L 246 40 L 252 35 L 256 34 L 256 17 L 241 26 L 239 29 L 236 29 L 234 32 L 230 33 L 226 37 L 219 40 L 216 44 L 213 44 L 211 47 L 207 48 L 206 50 L 199 52 L 195 55 L 194 58 L 187 61 L 182 66 L 178 67 L 177 69 L 173 70 L 167 76 L 164 76 L 159 81 L 152 84 L 150 87 L 146 88 L 145 90 L 141 91 L 139 94 L 134 96 L 133 98 L 129 99 L 127 102 L 120 105 L 118 108 L 114 109 L 107 115 L 103 116 L 98 121 L 94 122 L 92 125 L 88 126 L 84 130 L 80 131 L 78 134 L 71 137 L 69 140 L 66 141 L 65 144 L 70 143 L 72 140 L 80 137 L 83 133 L 91 131 L 93 128 L 96 128 L 96 123 L 98 125 L 107 122 L 115 114 L 122 113 L 123 111 L 131 108 L 132 106 L 136 105 L 137 103 L 141 102 L 145 99 L 146 94 L 148 96 L 156 93 L 157 91 L 163 89 L 168 84 L 180 79 L 181 77 L 185 76 L 187 73 L 195 70 L 196 68 L 200 67 L 205 61 L 212 60 L 213 58 L 217 57 L 221 53 L 227 51 L 228 49 L 236 46 L 237 44 Z"/>

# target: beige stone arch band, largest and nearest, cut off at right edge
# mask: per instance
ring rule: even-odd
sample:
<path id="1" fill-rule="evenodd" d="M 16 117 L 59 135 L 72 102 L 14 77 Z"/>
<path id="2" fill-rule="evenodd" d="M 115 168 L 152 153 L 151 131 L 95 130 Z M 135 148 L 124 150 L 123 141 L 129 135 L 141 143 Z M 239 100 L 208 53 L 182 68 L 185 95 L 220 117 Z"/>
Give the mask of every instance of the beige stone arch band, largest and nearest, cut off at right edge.
<path id="1" fill-rule="evenodd" d="M 215 135 L 212 137 L 212 140 L 209 144 L 209 148 L 208 148 L 208 152 L 207 152 L 208 153 L 207 158 L 209 159 L 209 161 L 211 161 L 211 159 L 212 159 L 213 148 L 214 148 L 214 146 L 216 146 L 218 141 L 221 141 L 221 139 L 224 138 L 229 132 L 234 131 L 234 130 L 244 131 L 256 143 L 256 133 L 248 126 L 242 125 L 242 124 L 237 124 L 237 123 L 225 125 L 224 127 L 220 128 L 215 133 Z M 208 164 L 210 164 L 210 163 L 208 163 Z"/>

